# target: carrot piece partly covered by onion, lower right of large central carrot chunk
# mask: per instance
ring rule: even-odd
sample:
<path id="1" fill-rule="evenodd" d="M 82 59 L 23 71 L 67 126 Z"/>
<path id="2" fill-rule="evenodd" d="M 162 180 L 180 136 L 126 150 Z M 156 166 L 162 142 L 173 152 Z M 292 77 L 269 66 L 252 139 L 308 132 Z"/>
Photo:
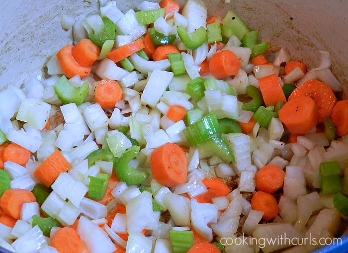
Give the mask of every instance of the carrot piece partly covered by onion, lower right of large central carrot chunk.
<path id="1" fill-rule="evenodd" d="M 195 197 L 199 203 L 212 203 L 212 198 L 227 196 L 231 192 L 231 189 L 221 178 L 204 178 L 202 182 L 205 187 L 207 187 L 208 191 Z"/>

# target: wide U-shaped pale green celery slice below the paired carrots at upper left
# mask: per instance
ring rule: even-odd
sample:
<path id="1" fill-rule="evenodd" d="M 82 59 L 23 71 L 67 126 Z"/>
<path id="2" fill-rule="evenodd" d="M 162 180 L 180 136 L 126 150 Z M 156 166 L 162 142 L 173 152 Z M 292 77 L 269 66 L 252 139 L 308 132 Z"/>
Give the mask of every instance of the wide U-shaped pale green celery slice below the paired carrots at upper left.
<path id="1" fill-rule="evenodd" d="M 59 81 L 53 85 L 53 89 L 63 104 L 75 103 L 76 105 L 81 105 L 88 95 L 89 84 L 86 81 L 81 87 L 75 87 L 70 84 L 67 77 L 63 75 Z"/>

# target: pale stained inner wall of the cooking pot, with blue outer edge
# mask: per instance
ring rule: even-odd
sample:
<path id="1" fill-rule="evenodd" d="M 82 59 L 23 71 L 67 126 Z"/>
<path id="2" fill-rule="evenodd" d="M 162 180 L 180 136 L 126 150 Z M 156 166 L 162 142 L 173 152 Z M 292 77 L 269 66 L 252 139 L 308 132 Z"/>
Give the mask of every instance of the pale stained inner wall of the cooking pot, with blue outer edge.
<path id="1" fill-rule="evenodd" d="M 331 52 L 332 72 L 344 85 L 343 97 L 348 98 L 348 0 L 225 1 L 205 0 L 208 14 L 223 16 L 234 10 L 260 31 L 261 40 L 269 41 L 271 49 L 288 49 L 292 59 L 302 60 L 309 69 L 319 65 L 318 50 Z M 117 6 L 125 11 L 140 2 L 117 0 Z M 2 1 L 0 90 L 9 84 L 20 86 L 33 76 L 44 78 L 50 56 L 72 42 L 71 30 L 62 29 L 61 16 L 76 18 L 97 8 L 97 0 Z M 332 250 L 339 248 L 325 248 L 326 252 Z"/>

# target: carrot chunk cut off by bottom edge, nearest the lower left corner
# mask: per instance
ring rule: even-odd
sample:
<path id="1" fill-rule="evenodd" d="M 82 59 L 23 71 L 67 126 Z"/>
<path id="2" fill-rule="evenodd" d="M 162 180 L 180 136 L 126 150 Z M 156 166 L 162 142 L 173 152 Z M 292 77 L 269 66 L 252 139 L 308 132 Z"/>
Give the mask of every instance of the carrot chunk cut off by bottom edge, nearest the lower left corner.
<path id="1" fill-rule="evenodd" d="M 89 253 L 78 232 L 70 227 L 59 229 L 51 238 L 50 246 L 60 253 Z"/>

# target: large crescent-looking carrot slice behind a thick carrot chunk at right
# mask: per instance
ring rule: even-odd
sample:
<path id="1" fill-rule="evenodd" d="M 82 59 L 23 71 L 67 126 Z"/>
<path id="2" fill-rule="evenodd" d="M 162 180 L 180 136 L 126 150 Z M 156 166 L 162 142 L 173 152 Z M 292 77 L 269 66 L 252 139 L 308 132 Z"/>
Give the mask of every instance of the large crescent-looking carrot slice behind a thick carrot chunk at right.
<path id="1" fill-rule="evenodd" d="M 317 80 L 309 80 L 295 88 L 288 100 L 303 95 L 310 96 L 314 100 L 315 107 L 318 111 L 318 123 L 323 123 L 325 117 L 329 118 L 331 116 L 337 98 L 327 84 Z"/>

